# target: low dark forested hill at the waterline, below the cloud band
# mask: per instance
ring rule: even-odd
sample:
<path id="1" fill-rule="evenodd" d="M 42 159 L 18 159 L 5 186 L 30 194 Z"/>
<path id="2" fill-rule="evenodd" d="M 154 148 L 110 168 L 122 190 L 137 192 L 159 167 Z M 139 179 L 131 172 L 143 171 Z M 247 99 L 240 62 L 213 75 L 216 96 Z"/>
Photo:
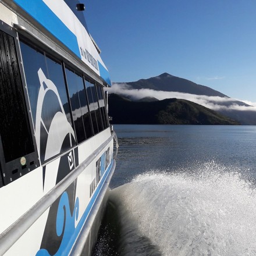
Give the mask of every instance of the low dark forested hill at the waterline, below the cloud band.
<path id="1" fill-rule="evenodd" d="M 239 125 L 226 116 L 185 99 L 135 102 L 111 94 L 109 115 L 116 124 Z"/>

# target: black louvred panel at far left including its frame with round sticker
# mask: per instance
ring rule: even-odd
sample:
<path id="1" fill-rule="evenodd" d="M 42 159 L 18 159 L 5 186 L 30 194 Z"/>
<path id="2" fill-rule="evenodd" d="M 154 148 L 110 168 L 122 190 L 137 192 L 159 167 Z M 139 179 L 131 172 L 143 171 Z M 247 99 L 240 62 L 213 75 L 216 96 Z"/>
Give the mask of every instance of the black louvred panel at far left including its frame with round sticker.
<path id="1" fill-rule="evenodd" d="M 38 164 L 14 36 L 0 30 L 0 170 L 5 185 Z"/>

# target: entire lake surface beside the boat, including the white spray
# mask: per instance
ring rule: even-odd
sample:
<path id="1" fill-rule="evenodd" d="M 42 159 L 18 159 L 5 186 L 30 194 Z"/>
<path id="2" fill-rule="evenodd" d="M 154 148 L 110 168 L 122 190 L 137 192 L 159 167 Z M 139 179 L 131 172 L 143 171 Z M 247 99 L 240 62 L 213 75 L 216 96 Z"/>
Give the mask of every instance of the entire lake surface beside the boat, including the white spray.
<path id="1" fill-rule="evenodd" d="M 115 125 L 95 255 L 256 255 L 256 126 Z"/>

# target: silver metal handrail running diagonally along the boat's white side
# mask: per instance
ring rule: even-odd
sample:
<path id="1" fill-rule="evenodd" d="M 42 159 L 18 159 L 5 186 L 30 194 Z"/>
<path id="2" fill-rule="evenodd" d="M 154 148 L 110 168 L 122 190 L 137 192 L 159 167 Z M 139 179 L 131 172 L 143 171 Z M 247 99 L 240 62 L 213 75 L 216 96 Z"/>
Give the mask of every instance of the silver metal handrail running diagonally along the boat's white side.
<path id="1" fill-rule="evenodd" d="M 33 225 L 35 221 L 62 195 L 83 172 L 84 169 L 98 156 L 98 154 L 115 138 L 116 134 L 112 131 L 111 136 L 102 143 L 91 155 L 89 155 L 76 169 L 72 170 L 56 186 L 48 191 L 36 204 L 33 205 L 25 214 L 0 234 L 0 255 L 6 253 L 10 247 Z"/>

